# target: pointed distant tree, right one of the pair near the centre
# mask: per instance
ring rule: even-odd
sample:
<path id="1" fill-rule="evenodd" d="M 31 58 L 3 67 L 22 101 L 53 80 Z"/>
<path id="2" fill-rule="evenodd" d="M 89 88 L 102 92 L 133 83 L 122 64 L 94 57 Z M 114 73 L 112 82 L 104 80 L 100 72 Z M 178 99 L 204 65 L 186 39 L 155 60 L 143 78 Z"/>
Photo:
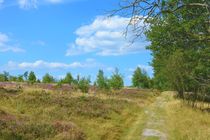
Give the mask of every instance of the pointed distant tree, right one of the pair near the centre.
<path id="1" fill-rule="evenodd" d="M 115 69 L 115 72 L 111 76 L 111 79 L 109 80 L 109 84 L 110 84 L 111 88 L 113 88 L 115 90 L 123 88 L 123 86 L 124 86 L 123 77 L 119 73 L 119 70 L 117 68 Z"/>

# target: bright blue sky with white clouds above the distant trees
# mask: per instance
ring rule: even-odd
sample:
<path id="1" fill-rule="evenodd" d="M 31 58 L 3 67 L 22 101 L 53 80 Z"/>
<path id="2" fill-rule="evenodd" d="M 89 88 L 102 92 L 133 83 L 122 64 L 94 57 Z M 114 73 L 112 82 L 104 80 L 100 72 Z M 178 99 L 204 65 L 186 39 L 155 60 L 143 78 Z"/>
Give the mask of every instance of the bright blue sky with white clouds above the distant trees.
<path id="1" fill-rule="evenodd" d="M 63 78 L 107 77 L 118 68 L 131 85 L 136 67 L 149 76 L 152 56 L 145 37 L 131 44 L 124 32 L 129 18 L 108 17 L 118 0 L 0 0 L 0 72 L 19 75 L 34 71 Z"/>

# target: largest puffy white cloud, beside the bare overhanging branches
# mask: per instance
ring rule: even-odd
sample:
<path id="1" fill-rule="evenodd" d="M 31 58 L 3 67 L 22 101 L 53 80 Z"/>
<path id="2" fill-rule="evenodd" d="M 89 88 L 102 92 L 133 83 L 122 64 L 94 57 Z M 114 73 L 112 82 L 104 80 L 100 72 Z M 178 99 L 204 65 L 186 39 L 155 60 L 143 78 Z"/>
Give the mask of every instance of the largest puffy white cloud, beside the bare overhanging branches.
<path id="1" fill-rule="evenodd" d="M 77 38 L 74 43 L 69 44 L 66 56 L 84 53 L 96 53 L 102 56 L 125 55 L 145 50 L 148 42 L 142 39 L 131 45 L 130 41 L 134 37 L 131 31 L 128 31 L 125 37 L 124 31 L 128 22 L 129 18 L 120 16 L 96 17 L 91 24 L 76 30 Z"/>

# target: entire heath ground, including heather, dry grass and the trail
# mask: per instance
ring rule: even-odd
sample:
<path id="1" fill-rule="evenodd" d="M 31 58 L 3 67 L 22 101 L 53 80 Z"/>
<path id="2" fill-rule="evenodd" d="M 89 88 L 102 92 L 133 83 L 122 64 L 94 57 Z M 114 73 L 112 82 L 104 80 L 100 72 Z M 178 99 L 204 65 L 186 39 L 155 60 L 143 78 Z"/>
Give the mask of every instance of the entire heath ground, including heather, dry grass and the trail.
<path id="1" fill-rule="evenodd" d="M 66 90 L 67 87 L 70 88 L 2 85 L 0 139 L 208 140 L 210 137 L 210 114 L 175 99 L 173 92 L 124 88 L 106 93 L 91 88 L 84 94 Z"/>

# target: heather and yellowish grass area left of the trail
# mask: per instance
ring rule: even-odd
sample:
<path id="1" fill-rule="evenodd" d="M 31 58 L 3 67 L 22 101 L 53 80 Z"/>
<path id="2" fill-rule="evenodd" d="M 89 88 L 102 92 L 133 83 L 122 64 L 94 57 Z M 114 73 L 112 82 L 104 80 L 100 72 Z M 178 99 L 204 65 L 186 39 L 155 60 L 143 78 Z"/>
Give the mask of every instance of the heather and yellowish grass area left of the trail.
<path id="1" fill-rule="evenodd" d="M 152 92 L 94 95 L 0 89 L 0 139 L 132 139 Z M 130 129 L 130 126 L 138 122 Z"/>

